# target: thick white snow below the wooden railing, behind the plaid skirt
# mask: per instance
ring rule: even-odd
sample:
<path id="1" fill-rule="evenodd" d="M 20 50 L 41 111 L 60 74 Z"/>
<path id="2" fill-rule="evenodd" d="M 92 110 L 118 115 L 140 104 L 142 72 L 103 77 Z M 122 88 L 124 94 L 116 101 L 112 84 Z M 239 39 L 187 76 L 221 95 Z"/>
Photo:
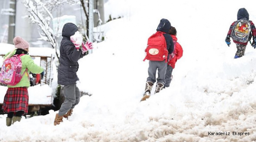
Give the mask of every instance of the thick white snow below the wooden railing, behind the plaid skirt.
<path id="1" fill-rule="evenodd" d="M 7 86 L 0 86 L 0 103 L 3 103 L 7 89 Z M 51 105 L 53 100 L 52 88 L 48 84 L 29 87 L 28 96 L 28 104 L 33 105 Z"/>

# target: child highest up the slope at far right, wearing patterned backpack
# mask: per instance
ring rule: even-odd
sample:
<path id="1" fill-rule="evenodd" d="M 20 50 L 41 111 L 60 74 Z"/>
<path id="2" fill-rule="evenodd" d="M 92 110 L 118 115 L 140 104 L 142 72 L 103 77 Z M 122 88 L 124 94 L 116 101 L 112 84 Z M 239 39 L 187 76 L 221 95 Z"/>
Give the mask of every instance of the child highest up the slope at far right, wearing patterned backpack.
<path id="1" fill-rule="evenodd" d="M 228 30 L 228 35 L 225 39 L 228 46 L 230 45 L 230 37 L 236 43 L 237 48 L 234 58 L 244 56 L 246 45 L 252 37 L 252 47 L 256 48 L 256 29 L 254 23 L 249 20 L 249 13 L 245 8 L 239 9 L 237 20 L 231 24 Z"/>

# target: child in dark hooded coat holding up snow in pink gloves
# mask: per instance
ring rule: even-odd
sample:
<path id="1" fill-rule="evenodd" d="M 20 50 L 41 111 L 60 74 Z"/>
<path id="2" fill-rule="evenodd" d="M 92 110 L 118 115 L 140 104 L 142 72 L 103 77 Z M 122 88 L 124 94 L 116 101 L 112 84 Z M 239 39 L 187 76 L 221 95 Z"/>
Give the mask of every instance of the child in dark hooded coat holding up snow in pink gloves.
<path id="1" fill-rule="evenodd" d="M 62 41 L 60 47 L 60 58 L 58 68 L 58 84 L 64 86 L 65 100 L 61 105 L 59 113 L 56 114 L 54 125 L 59 125 L 63 120 L 72 114 L 73 108 L 80 101 L 80 91 L 76 86 L 78 77 L 78 60 L 84 57 L 89 49 L 92 49 L 91 42 L 82 42 L 82 37 L 76 36 L 78 28 L 73 23 L 63 26 Z"/>

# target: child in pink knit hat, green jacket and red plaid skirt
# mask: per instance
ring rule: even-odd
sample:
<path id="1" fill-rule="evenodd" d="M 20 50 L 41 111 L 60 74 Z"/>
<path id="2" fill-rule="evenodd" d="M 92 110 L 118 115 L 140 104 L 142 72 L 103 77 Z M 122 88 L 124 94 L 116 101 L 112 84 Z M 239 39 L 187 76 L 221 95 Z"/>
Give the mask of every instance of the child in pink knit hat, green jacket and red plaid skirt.
<path id="1" fill-rule="evenodd" d="M 13 39 L 13 43 L 15 45 L 15 49 L 13 49 L 12 52 L 7 53 L 6 56 L 4 57 L 4 64 L 2 66 L 0 74 L 1 82 L 4 82 L 4 79 L 8 79 L 6 78 L 6 76 L 2 76 L 6 71 L 5 69 L 3 69 L 5 68 L 5 61 L 9 60 L 9 58 L 19 60 L 21 64 L 21 76 L 20 78 L 17 78 L 16 75 L 12 75 L 13 77 L 11 78 L 11 80 L 19 80 L 19 82 L 7 85 L 8 90 L 4 96 L 4 102 L 2 106 L 3 112 L 7 113 L 7 126 L 10 126 L 16 121 L 20 121 L 22 114 L 28 113 L 28 87 L 30 86 L 29 72 L 43 72 L 43 68 L 37 66 L 34 63 L 33 59 L 28 55 L 29 44 L 27 41 L 25 41 L 21 37 L 15 37 Z M 13 60 L 13 62 L 11 62 L 10 60 L 10 65 L 9 63 L 6 63 L 8 64 L 7 67 L 9 71 L 12 68 L 15 68 L 11 66 L 16 65 L 14 62 L 17 62 L 17 60 Z"/>

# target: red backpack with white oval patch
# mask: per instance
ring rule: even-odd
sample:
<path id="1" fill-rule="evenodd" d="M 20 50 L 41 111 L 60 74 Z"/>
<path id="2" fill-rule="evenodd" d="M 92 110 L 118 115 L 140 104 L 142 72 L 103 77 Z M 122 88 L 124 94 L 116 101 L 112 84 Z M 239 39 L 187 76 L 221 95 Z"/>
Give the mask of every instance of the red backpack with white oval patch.
<path id="1" fill-rule="evenodd" d="M 165 41 L 165 32 L 157 31 L 155 34 L 148 38 L 148 46 L 145 49 L 147 52 L 146 57 L 143 61 L 153 60 L 153 61 L 163 61 L 167 62 L 168 50 Z"/>

